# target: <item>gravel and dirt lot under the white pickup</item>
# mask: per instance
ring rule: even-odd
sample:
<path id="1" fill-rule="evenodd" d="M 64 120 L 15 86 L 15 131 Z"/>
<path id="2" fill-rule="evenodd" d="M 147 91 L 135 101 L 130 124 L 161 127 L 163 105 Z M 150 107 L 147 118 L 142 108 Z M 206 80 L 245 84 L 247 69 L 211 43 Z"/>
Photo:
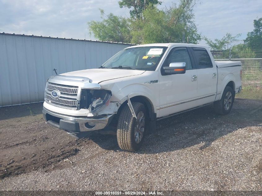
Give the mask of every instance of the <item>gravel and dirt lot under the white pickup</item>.
<path id="1" fill-rule="evenodd" d="M 41 112 L 42 103 L 0 108 L 0 190 L 262 190 L 261 101 L 158 121 L 136 153 L 115 136 L 76 141 Z"/>

